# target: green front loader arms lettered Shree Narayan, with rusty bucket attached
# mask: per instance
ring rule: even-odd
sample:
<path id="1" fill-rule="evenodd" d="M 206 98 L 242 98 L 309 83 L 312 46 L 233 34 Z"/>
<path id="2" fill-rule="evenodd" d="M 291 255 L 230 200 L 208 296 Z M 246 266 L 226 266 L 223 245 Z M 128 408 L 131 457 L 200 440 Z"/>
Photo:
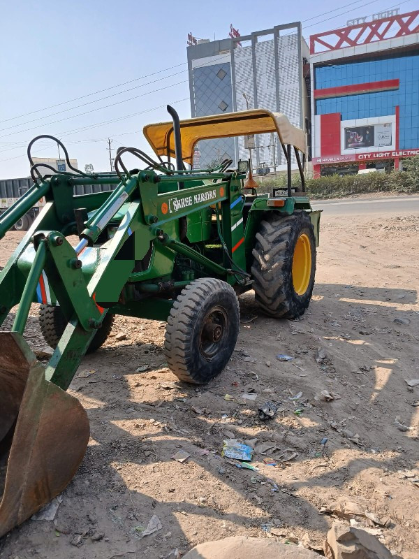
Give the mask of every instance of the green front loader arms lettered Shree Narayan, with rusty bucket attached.
<path id="1" fill-rule="evenodd" d="M 237 245 L 235 236 L 242 235 L 242 224 L 233 234 L 239 214 L 232 217 L 231 212 L 231 206 L 239 209 L 242 201 L 240 177 L 182 175 L 182 190 L 177 177 L 154 171 L 108 180 L 115 184 L 112 192 L 75 196 L 74 187 L 88 182 L 86 177 L 47 178 L 25 203 L 0 217 L 4 235 L 36 197 L 47 199 L 0 273 L 0 321 L 19 305 L 12 332 L 0 333 L 0 379 L 7 387 L 0 394 L 0 436 L 11 438 L 0 535 L 62 491 L 84 456 L 87 416 L 65 391 L 105 315 L 166 320 L 177 290 L 189 283 L 186 278 L 192 273 L 173 277 L 177 258 L 186 259 L 196 273 L 211 273 L 231 284 L 237 282 L 233 268 L 244 266 L 244 245 Z M 78 208 L 88 215 L 80 232 L 72 218 Z M 218 261 L 205 254 L 202 237 L 195 243 L 179 240 L 179 222 L 195 216 L 191 223 L 196 223 L 205 211 L 217 215 L 223 231 L 225 249 L 217 249 Z M 193 231 L 186 231 L 192 240 Z M 80 236 L 73 247 L 67 237 L 75 233 Z M 68 321 L 45 369 L 22 337 L 31 303 L 59 305 Z M 52 425 L 62 426 L 59 440 Z"/>

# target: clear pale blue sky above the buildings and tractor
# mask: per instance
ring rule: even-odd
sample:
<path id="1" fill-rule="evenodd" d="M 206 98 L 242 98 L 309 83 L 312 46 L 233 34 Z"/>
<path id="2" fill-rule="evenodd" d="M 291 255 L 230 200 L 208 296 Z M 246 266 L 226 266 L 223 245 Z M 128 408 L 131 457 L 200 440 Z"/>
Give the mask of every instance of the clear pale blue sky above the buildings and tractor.
<path id="1" fill-rule="evenodd" d="M 39 134 L 61 139 L 82 170 L 85 164 L 109 170 L 108 138 L 113 150 L 127 145 L 152 154 L 142 137 L 145 124 L 168 120 L 168 103 L 181 118 L 191 117 L 189 32 L 214 40 L 227 38 L 230 23 L 247 35 L 302 21 L 308 42 L 311 34 L 345 27 L 353 17 L 418 9 L 417 0 L 394 1 L 3 3 L 0 178 L 29 175 L 27 144 Z M 57 144 L 43 140 L 32 154 L 56 158 Z"/>

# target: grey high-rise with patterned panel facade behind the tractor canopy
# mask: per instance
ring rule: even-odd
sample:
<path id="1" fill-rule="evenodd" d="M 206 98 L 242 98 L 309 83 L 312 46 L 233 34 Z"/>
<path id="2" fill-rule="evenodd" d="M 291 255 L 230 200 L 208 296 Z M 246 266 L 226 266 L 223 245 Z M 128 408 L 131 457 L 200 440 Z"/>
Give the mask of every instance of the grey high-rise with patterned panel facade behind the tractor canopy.
<path id="1" fill-rule="evenodd" d="M 265 108 L 284 112 L 292 124 L 309 133 L 309 48 L 300 22 L 221 41 L 198 41 L 187 54 L 193 117 Z M 244 143 L 244 137 L 203 140 L 196 164 L 205 168 L 227 157 L 235 162 L 248 159 Z M 254 138 L 253 166 L 285 163 L 274 134 Z"/>

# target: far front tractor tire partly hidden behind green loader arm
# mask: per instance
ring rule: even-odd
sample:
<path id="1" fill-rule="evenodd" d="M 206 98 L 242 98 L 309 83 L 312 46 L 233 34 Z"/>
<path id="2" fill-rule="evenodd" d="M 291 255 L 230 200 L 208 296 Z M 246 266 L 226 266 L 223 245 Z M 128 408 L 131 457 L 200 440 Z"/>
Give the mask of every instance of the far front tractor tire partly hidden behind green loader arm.
<path id="1" fill-rule="evenodd" d="M 98 328 L 93 340 L 91 340 L 86 353 L 92 354 L 96 349 L 99 349 L 103 345 L 110 335 L 114 321 L 113 314 L 106 314 L 103 319 L 101 328 Z M 39 326 L 41 327 L 41 333 L 44 337 L 45 342 L 55 349 L 61 336 L 64 334 L 64 330 L 67 327 L 67 321 L 64 314 L 61 312 L 60 307 L 56 305 L 41 305 L 39 310 Z"/>

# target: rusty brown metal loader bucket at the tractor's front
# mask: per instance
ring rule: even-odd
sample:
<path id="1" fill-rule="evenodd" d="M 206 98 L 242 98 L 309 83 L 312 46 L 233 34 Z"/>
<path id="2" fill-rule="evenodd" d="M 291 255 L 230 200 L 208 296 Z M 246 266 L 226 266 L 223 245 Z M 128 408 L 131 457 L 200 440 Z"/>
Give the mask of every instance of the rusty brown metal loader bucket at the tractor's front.
<path id="1" fill-rule="evenodd" d="M 0 332 L 0 537 L 63 491 L 88 442 L 80 402 L 45 380 L 20 334 Z"/>

